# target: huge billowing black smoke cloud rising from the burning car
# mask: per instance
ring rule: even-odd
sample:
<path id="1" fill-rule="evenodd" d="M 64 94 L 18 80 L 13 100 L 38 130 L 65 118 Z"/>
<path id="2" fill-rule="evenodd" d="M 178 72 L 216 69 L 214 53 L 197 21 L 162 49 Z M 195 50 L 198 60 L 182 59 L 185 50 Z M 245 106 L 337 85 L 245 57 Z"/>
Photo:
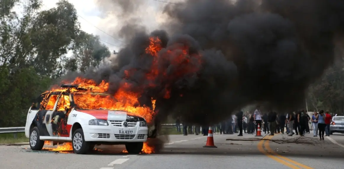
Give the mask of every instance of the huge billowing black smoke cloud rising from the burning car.
<path id="1" fill-rule="evenodd" d="M 187 0 L 167 5 L 164 13 L 170 35 L 128 29 L 134 36 L 111 66 L 86 74 L 109 81 L 113 93 L 123 82 L 133 91 L 144 88 L 141 104 L 157 99 L 159 120 L 174 113 L 186 121 L 214 123 L 257 102 L 299 109 L 304 91 L 333 63 L 336 41 L 343 40 L 343 0 Z M 159 74 L 155 87 L 148 88 L 150 36 L 162 41 L 158 69 L 168 76 Z M 175 65 L 182 46 L 188 46 L 190 63 Z M 200 64 L 195 56 L 201 56 Z M 199 70 L 175 75 L 190 65 Z M 125 77 L 125 70 L 136 71 Z M 163 98 L 166 86 L 170 99 Z"/>

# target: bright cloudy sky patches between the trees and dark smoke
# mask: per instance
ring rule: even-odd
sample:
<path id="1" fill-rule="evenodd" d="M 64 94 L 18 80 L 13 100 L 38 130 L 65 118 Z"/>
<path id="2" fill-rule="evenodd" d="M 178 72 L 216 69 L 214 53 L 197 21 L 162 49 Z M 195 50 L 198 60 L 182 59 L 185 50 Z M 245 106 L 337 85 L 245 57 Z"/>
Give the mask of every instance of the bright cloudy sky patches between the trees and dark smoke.
<path id="1" fill-rule="evenodd" d="M 111 6 L 110 3 L 105 3 L 108 4 L 108 7 L 114 8 L 113 11 L 109 11 L 109 9 L 105 10 L 104 5 L 102 6 L 97 3 L 99 1 L 102 0 L 69 0 L 70 3 L 74 4 L 75 9 L 80 16 L 78 20 L 80 22 L 81 29 L 87 33 L 99 35 L 101 41 L 103 41 L 103 43 L 109 48 L 110 51 L 118 51 L 120 49 L 119 47 L 122 47 L 124 45 L 122 42 L 115 39 L 117 38 L 121 40 L 117 33 L 118 30 L 121 28 L 121 19 L 116 16 L 121 11 L 121 9 Z M 139 8 L 135 10 L 136 13 L 134 13 L 134 15 L 135 17 L 140 18 L 140 24 L 146 26 L 148 31 L 157 29 L 159 25 L 163 23 L 165 16 L 164 14 L 162 14 L 162 10 L 163 6 L 166 5 L 166 3 L 154 0 L 131 1 L 141 1 Z M 176 1 L 178 0 L 170 0 L 170 2 Z M 58 0 L 43 0 L 44 5 L 42 7 L 42 10 L 55 7 L 56 2 L 58 2 Z"/>

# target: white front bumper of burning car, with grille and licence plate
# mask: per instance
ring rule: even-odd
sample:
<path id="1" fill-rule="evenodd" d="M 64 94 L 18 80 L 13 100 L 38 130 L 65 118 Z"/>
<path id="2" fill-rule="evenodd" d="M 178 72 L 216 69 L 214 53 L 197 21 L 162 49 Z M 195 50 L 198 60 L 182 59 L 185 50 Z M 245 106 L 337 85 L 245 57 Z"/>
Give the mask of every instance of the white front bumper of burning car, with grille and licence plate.
<path id="1" fill-rule="evenodd" d="M 103 142 L 145 142 L 147 140 L 147 127 L 116 127 L 83 125 L 85 141 Z M 128 134 L 121 134 L 119 130 L 130 130 Z M 97 137 L 98 136 L 98 137 Z M 72 138 L 73 139 L 73 138 Z"/>

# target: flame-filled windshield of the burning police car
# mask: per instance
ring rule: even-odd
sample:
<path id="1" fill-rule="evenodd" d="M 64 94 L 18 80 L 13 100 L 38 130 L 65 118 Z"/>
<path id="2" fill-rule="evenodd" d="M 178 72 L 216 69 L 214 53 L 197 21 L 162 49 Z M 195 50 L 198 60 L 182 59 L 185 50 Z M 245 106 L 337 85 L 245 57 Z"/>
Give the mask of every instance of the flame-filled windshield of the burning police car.
<path id="1" fill-rule="evenodd" d="M 102 93 L 75 93 L 73 98 L 80 109 L 113 110 L 118 102 L 114 97 Z"/>

